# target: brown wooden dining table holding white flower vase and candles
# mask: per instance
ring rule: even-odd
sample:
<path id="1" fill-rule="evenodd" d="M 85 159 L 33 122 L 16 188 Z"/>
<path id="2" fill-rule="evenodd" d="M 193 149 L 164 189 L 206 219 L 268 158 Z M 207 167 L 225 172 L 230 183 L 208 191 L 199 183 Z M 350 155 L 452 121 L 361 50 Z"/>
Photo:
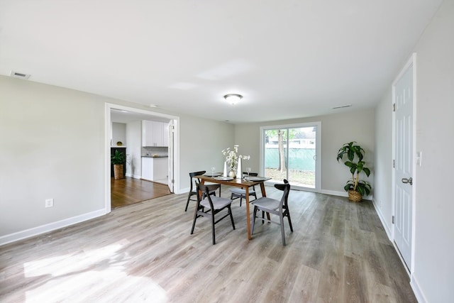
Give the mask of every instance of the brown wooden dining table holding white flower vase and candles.
<path id="1" fill-rule="evenodd" d="M 271 180 L 272 178 L 268 177 L 250 177 L 253 178 L 253 181 L 244 180 L 243 178 L 234 178 L 233 180 L 228 180 L 228 178 L 219 177 L 211 177 L 207 175 L 199 175 L 194 176 L 200 180 L 200 184 L 204 184 L 204 182 L 210 183 L 217 183 L 217 184 L 224 184 L 233 187 L 240 187 L 245 189 L 245 199 L 246 199 L 246 223 L 248 226 L 248 239 L 250 240 L 252 236 L 250 235 L 250 209 L 249 209 L 249 187 L 254 185 L 260 185 L 260 190 L 262 191 L 262 197 L 266 197 L 267 194 L 265 192 L 265 181 Z M 260 180 L 259 180 L 260 179 Z M 267 214 L 269 216 L 269 214 Z"/>

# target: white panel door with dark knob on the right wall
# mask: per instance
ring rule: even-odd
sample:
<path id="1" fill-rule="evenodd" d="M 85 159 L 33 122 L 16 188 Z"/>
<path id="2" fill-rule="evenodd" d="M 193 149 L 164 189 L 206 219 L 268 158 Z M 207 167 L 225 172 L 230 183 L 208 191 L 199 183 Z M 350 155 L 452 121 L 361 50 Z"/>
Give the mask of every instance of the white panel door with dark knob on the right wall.
<path id="1" fill-rule="evenodd" d="M 411 269 L 413 230 L 413 63 L 394 84 L 394 242 Z"/>

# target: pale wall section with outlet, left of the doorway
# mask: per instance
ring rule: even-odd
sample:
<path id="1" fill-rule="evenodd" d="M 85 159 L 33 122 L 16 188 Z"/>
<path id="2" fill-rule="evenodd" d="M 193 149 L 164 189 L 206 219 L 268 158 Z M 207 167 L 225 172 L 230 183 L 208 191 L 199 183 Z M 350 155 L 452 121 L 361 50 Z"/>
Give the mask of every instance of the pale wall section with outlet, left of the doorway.
<path id="1" fill-rule="evenodd" d="M 0 243 L 104 209 L 104 104 L 94 99 L 0 77 Z"/>

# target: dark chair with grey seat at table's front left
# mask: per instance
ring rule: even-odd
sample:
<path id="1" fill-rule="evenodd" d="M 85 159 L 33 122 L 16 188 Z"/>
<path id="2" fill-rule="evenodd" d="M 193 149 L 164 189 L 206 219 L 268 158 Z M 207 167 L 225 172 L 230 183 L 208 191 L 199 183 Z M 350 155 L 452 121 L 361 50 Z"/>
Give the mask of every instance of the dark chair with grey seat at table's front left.
<path id="1" fill-rule="evenodd" d="M 233 216 L 232 216 L 232 209 L 231 209 L 231 204 L 232 200 L 227 199 L 227 198 L 222 198 L 222 197 L 216 197 L 210 192 L 216 191 L 221 184 L 199 184 L 199 182 L 196 182 L 196 188 L 200 190 L 204 195 L 202 194 L 197 194 L 197 205 L 196 205 L 196 210 L 194 211 L 194 221 L 192 222 L 192 229 L 191 229 L 191 234 L 194 233 L 194 227 L 196 226 L 196 220 L 200 216 L 205 216 L 209 219 L 211 219 L 211 237 L 213 238 L 213 245 L 216 244 L 216 236 L 214 232 L 214 226 L 217 224 L 219 221 L 222 219 L 226 218 L 227 216 L 230 216 L 231 222 L 232 222 L 232 227 L 235 229 L 235 223 L 233 222 Z M 205 210 L 206 209 L 206 210 Z M 215 216 L 219 212 L 223 211 L 223 209 L 227 210 L 227 214 L 224 214 L 221 216 L 221 218 L 218 218 L 215 221 Z"/>

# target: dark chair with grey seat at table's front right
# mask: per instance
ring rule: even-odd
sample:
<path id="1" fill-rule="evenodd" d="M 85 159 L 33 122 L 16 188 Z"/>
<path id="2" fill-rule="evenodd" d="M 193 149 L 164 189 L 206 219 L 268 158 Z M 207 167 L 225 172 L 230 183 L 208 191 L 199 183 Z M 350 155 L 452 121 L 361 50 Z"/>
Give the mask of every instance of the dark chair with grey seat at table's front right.
<path id="1" fill-rule="evenodd" d="M 262 221 L 267 221 L 273 224 L 281 226 L 281 236 L 282 236 L 282 245 L 285 246 L 285 234 L 284 234 L 284 216 L 287 216 L 289 221 L 290 231 L 293 232 L 292 219 L 290 219 L 288 198 L 290 192 L 290 184 L 287 180 L 284 180 L 284 184 L 275 184 L 275 187 L 279 190 L 282 190 L 282 197 L 280 200 L 272 199 L 269 197 L 260 197 L 252 202 L 254 205 L 254 221 L 251 234 L 254 233 L 255 219 L 260 219 Z M 260 218 L 257 216 L 258 211 L 265 211 L 270 214 L 275 214 L 279 216 L 279 223 L 272 221 L 270 219 L 265 219 L 263 216 Z"/>

